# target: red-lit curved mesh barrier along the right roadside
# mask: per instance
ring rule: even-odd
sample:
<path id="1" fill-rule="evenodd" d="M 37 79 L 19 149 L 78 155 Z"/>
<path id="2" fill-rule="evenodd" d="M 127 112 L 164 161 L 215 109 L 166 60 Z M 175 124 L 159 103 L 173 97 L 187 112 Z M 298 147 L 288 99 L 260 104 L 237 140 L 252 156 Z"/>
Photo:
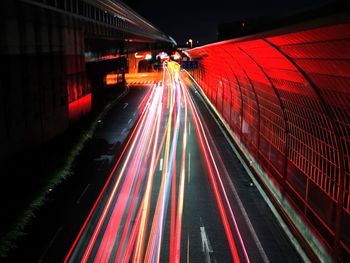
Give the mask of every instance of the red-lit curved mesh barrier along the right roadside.
<path id="1" fill-rule="evenodd" d="M 193 77 L 295 234 L 350 258 L 350 19 L 343 12 L 188 51 Z M 331 259 L 332 258 L 332 259 Z"/>

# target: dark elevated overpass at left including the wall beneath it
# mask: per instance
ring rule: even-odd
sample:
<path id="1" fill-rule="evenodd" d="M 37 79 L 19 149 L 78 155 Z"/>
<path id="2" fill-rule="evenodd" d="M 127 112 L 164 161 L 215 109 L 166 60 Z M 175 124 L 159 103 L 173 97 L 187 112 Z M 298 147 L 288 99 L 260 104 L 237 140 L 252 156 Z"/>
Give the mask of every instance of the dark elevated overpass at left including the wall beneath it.
<path id="1" fill-rule="evenodd" d="M 119 1 L 6 0 L 0 8 L 1 155 L 47 142 L 91 110 L 91 57 L 176 44 Z"/>

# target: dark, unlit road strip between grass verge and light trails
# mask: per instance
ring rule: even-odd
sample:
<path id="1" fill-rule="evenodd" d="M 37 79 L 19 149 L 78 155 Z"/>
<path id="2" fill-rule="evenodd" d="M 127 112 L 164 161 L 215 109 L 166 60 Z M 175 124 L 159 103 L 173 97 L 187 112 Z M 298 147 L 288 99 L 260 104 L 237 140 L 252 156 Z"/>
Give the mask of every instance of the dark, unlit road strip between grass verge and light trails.
<path id="1" fill-rule="evenodd" d="M 5 262 L 64 260 L 139 118 L 139 105 L 149 87 L 151 84 L 131 86 L 109 106 L 75 159 L 71 176 L 50 191 L 46 204 L 35 212 L 35 218 L 22 230 L 25 235 Z"/>

